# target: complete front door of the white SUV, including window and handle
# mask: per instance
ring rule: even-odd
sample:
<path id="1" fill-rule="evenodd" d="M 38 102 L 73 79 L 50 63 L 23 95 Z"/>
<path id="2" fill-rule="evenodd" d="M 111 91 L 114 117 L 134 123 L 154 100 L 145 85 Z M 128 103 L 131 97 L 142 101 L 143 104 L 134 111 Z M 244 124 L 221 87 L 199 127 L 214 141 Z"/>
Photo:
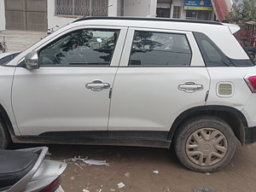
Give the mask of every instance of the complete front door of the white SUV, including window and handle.
<path id="1" fill-rule="evenodd" d="M 37 50 L 38 69 L 16 67 L 12 104 L 20 134 L 107 135 L 109 93 L 126 31 L 73 28 Z"/>

